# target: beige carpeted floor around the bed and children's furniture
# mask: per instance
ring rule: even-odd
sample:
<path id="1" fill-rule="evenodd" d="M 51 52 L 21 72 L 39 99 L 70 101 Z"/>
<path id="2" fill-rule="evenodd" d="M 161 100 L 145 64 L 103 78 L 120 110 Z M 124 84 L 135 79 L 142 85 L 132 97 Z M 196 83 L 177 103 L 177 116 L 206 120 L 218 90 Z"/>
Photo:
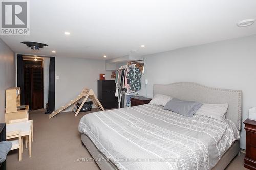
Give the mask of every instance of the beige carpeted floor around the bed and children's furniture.
<path id="1" fill-rule="evenodd" d="M 93 109 L 91 112 L 99 111 Z M 81 145 L 80 135 L 77 130 L 80 118 L 90 112 L 74 113 L 65 112 L 49 120 L 44 110 L 31 111 L 33 119 L 34 142 L 32 143 L 32 158 L 28 156 L 28 149 L 24 149 L 22 161 L 18 161 L 18 150 L 11 151 L 7 156 L 7 169 L 99 169 L 91 155 Z M 244 154 L 234 158 L 227 169 L 246 169 L 243 167 Z"/>

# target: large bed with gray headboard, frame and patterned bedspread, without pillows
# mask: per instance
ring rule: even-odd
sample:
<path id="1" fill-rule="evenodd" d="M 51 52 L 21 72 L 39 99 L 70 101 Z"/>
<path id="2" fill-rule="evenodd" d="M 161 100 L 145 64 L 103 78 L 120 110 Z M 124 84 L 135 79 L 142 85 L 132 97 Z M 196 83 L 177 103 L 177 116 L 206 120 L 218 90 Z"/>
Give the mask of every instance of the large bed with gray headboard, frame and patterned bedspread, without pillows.
<path id="1" fill-rule="evenodd" d="M 87 114 L 78 130 L 101 169 L 225 169 L 239 153 L 242 91 L 177 82 L 154 85 L 154 94 L 228 103 L 226 120 L 149 104 Z"/>

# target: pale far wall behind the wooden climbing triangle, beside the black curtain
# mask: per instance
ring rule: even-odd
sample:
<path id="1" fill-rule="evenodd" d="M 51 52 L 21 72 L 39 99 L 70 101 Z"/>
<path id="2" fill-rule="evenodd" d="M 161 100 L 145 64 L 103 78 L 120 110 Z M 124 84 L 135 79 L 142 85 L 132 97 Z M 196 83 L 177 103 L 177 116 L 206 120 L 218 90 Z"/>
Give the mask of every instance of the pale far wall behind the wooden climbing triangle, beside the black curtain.
<path id="1" fill-rule="evenodd" d="M 74 99 L 84 87 L 93 89 L 97 95 L 97 80 L 100 73 L 105 73 L 106 79 L 110 79 L 112 74 L 112 71 L 105 70 L 104 60 L 56 57 L 55 74 L 59 76 L 59 80 L 55 79 L 55 109 Z"/>

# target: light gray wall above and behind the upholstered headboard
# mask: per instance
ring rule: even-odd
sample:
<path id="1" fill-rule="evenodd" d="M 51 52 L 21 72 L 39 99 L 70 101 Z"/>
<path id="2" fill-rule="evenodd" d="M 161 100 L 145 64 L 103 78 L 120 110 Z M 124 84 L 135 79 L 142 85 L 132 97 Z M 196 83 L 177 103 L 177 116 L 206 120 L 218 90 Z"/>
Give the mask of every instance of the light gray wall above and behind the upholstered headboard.
<path id="1" fill-rule="evenodd" d="M 148 79 L 148 96 L 153 95 L 153 84 L 190 81 L 211 87 L 242 90 L 243 121 L 248 118 L 248 108 L 256 106 L 256 35 L 143 58 L 145 75 L 141 80 L 141 95 L 145 95 L 145 78 Z M 242 125 L 241 148 L 245 149 Z"/>

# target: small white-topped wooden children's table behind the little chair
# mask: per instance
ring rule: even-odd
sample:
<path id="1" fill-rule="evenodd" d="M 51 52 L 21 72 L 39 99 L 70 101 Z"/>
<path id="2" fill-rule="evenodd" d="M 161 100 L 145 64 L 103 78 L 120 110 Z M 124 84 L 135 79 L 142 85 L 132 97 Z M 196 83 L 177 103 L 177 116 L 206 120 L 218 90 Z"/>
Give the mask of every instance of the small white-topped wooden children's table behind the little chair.
<path id="1" fill-rule="evenodd" d="M 29 157 L 31 158 L 31 143 L 32 143 L 32 135 L 33 135 L 33 120 L 28 120 L 24 122 L 17 122 L 6 125 L 6 133 L 20 130 L 20 135 L 29 136 Z M 27 143 L 27 141 L 26 141 Z"/>

